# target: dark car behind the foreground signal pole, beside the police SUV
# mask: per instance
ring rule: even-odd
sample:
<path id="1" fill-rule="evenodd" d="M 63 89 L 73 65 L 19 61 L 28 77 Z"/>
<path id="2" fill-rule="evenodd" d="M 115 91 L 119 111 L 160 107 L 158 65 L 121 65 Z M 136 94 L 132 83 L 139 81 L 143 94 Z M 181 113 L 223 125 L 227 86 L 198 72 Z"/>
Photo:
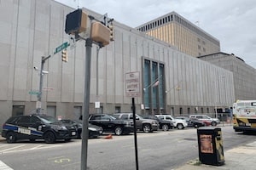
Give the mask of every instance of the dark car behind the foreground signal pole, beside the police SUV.
<path id="1" fill-rule="evenodd" d="M 78 139 L 81 139 L 81 133 L 82 133 L 82 127 L 83 127 L 83 121 L 81 120 L 69 120 L 69 119 L 62 119 L 61 122 L 72 124 L 75 126 L 78 130 Z M 102 135 L 103 129 L 102 127 L 98 127 L 96 125 L 88 124 L 88 130 L 89 130 L 89 138 L 97 138 Z"/>

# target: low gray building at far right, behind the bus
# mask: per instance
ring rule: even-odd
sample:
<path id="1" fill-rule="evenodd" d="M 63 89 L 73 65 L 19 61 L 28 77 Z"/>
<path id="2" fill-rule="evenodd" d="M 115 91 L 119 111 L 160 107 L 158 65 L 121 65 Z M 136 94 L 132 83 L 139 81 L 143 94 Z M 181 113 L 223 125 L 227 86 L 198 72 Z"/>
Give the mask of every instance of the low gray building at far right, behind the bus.
<path id="1" fill-rule="evenodd" d="M 233 72 L 235 99 L 256 99 L 256 69 L 247 65 L 245 61 L 235 54 L 216 53 L 200 56 L 212 65 L 218 65 Z"/>

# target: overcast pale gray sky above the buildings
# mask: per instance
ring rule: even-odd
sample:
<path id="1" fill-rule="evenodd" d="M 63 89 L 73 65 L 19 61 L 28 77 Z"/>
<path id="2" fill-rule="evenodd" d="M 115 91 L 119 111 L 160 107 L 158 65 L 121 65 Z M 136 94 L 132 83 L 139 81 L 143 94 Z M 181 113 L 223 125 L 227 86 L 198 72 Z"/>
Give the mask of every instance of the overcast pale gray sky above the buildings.
<path id="1" fill-rule="evenodd" d="M 221 52 L 235 54 L 256 69 L 255 0 L 55 0 L 72 8 L 108 14 L 133 28 L 175 11 L 220 42 Z"/>

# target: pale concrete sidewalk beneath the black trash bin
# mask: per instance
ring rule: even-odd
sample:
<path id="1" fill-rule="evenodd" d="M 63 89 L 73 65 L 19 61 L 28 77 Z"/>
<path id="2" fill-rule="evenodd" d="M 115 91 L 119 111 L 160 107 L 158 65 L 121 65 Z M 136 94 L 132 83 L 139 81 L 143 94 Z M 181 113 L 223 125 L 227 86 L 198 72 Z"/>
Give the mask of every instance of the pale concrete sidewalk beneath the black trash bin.
<path id="1" fill-rule="evenodd" d="M 210 166 L 205 164 L 200 164 L 199 161 L 189 161 L 187 164 L 182 167 L 177 167 L 172 170 L 248 170 L 256 169 L 256 141 L 250 144 L 245 144 L 239 147 L 236 147 L 231 150 L 224 151 L 224 160 L 225 163 L 222 166 Z M 198 165 L 199 163 L 199 165 Z"/>

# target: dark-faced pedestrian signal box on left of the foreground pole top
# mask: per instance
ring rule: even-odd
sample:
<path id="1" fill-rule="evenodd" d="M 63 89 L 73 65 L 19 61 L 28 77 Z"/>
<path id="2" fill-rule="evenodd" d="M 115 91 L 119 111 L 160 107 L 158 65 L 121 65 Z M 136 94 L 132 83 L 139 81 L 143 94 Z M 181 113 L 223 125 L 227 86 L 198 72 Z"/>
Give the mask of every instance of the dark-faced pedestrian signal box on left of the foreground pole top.
<path id="1" fill-rule="evenodd" d="M 77 9 L 66 16 L 65 32 L 67 34 L 86 31 L 88 15 L 81 9 Z"/>

